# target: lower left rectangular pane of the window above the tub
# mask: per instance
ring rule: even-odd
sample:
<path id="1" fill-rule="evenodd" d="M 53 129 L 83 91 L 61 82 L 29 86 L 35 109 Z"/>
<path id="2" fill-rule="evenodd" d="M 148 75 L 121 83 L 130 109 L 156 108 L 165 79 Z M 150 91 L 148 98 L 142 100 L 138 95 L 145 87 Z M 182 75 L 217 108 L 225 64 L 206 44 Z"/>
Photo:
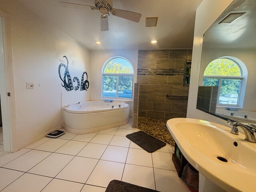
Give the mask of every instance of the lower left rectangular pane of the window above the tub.
<path id="1" fill-rule="evenodd" d="M 103 76 L 103 97 L 116 97 L 117 76 Z"/>

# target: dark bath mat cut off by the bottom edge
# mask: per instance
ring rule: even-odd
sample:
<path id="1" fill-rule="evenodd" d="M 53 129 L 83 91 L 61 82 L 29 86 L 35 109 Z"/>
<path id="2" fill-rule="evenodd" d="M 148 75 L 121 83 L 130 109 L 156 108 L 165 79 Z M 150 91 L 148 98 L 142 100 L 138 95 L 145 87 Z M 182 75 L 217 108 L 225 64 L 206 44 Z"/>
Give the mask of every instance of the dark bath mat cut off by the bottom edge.
<path id="1" fill-rule="evenodd" d="M 145 187 L 140 187 L 138 185 L 126 183 L 123 181 L 112 180 L 108 184 L 105 192 L 159 192 Z"/>

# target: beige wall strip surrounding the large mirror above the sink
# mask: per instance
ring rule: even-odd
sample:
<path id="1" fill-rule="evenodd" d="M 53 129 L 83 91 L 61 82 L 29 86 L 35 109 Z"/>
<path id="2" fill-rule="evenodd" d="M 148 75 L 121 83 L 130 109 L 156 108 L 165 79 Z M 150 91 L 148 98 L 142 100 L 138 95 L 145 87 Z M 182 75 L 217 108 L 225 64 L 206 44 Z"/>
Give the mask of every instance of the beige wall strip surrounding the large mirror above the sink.
<path id="1" fill-rule="evenodd" d="M 203 35 L 232 1 L 233 0 L 204 0 L 196 10 L 191 80 L 188 97 L 188 118 L 203 119 L 227 125 L 226 121 L 196 109 L 196 100 L 198 92 Z"/>

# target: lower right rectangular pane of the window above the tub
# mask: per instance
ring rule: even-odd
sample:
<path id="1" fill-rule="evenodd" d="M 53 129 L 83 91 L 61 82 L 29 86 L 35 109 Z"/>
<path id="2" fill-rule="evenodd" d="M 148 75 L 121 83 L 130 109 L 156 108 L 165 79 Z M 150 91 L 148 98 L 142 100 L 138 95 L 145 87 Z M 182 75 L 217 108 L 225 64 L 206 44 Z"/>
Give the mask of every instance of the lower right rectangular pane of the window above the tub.
<path id="1" fill-rule="evenodd" d="M 119 76 L 118 98 L 132 98 L 132 77 Z"/>

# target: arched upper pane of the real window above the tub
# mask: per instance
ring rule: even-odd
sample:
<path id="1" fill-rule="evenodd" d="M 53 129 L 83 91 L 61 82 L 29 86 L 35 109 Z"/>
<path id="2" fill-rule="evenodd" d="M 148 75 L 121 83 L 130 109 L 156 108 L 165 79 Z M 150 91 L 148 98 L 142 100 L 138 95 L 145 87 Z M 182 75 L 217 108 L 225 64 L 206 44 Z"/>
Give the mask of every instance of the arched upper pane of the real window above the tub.
<path id="1" fill-rule="evenodd" d="M 132 64 L 123 58 L 115 58 L 110 60 L 105 68 L 104 73 L 127 73 L 133 74 Z"/>

